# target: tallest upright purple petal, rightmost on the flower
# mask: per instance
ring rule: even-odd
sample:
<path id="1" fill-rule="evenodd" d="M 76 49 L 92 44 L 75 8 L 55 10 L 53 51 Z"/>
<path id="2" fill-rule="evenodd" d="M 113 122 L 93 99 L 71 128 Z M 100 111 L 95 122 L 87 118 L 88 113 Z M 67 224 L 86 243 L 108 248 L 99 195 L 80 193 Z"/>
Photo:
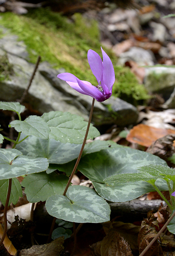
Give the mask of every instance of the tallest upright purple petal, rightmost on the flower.
<path id="1" fill-rule="evenodd" d="M 108 87 L 109 91 L 112 91 L 112 85 L 115 82 L 114 68 L 111 59 L 102 49 L 102 47 L 101 52 L 103 54 L 103 81 L 104 84 Z"/>

